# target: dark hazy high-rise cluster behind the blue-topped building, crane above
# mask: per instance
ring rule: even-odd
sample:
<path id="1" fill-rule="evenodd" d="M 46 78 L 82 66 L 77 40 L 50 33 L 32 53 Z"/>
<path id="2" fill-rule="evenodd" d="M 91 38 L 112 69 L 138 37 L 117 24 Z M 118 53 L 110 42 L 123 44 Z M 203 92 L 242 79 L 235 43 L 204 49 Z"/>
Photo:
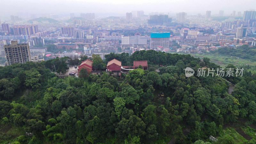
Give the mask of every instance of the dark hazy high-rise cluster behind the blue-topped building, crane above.
<path id="1" fill-rule="evenodd" d="M 172 18 L 168 18 L 168 15 L 150 15 L 148 20 L 149 25 L 165 25 L 172 22 Z"/>

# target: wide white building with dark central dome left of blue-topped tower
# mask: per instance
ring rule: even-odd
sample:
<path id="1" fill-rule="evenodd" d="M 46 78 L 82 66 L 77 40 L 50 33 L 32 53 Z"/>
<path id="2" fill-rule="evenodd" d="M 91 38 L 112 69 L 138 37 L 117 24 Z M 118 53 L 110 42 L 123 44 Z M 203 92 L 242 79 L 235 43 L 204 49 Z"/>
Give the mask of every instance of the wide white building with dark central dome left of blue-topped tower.
<path id="1" fill-rule="evenodd" d="M 134 36 L 122 36 L 121 44 L 147 44 L 148 40 L 146 36 L 141 36 L 137 32 Z"/>

